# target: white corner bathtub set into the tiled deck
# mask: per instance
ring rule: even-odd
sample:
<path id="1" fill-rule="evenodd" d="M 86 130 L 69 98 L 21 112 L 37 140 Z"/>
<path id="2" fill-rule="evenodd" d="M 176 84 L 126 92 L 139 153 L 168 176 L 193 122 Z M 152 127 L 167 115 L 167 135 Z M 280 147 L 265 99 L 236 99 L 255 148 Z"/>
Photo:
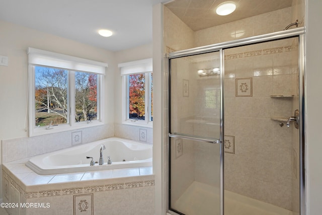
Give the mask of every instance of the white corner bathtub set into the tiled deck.
<path id="1" fill-rule="evenodd" d="M 103 150 L 104 164 L 99 165 L 100 148 Z M 90 166 L 93 157 L 94 166 Z M 112 164 L 107 164 L 107 157 Z M 109 170 L 131 167 L 152 166 L 152 146 L 137 141 L 111 137 L 81 146 L 71 147 L 32 157 L 26 166 L 40 175 Z"/>

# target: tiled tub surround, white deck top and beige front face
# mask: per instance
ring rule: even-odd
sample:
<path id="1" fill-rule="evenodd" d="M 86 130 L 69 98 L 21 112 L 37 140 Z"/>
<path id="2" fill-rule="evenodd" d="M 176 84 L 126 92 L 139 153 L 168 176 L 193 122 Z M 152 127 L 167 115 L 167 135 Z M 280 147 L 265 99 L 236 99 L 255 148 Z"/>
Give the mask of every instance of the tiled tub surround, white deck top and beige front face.
<path id="1" fill-rule="evenodd" d="M 22 161 L 23 162 L 23 161 Z M 19 163 L 7 163 L 3 167 L 4 184 L 12 184 L 20 193 L 22 202 L 47 202 L 51 208 L 25 208 L 22 214 L 56 214 L 57 212 L 64 214 L 71 210 L 68 214 L 105 214 L 107 207 L 109 211 L 118 211 L 111 214 L 130 214 L 122 211 L 135 211 L 133 214 L 151 214 L 154 210 L 154 176 L 152 167 L 128 168 L 121 171 L 105 170 L 85 173 L 68 173 L 56 174 L 54 176 L 41 176 L 32 172 L 29 168 L 29 175 L 32 176 L 34 183 L 26 184 L 25 178 L 18 179 L 17 174 L 11 172 L 26 172 L 23 165 Z M 21 171 L 18 171 L 21 169 Z M 112 172 L 115 172 L 113 178 Z M 133 172 L 134 171 L 134 172 Z M 122 172 L 122 174 L 120 174 Z M 126 173 L 127 172 L 127 173 Z M 70 177 L 73 182 L 70 182 Z M 51 178 L 51 179 L 50 179 Z M 53 180 L 56 178 L 55 183 Z M 82 178 L 82 179 L 79 179 Z M 77 180 L 76 180 L 77 179 Z M 119 197 L 124 200 L 129 193 L 137 198 L 129 198 L 126 205 L 120 205 L 119 200 L 116 200 L 113 192 L 118 192 Z M 128 194 L 127 194 L 128 193 Z M 109 204 L 97 204 L 97 200 L 106 200 L 106 196 L 111 197 Z M 58 197 L 58 198 L 57 198 Z M 4 199 L 5 202 L 8 200 Z M 124 201 L 123 201 L 124 202 Z M 146 205 L 146 202 L 149 202 Z M 108 206 L 107 206 L 108 205 Z M 133 205 L 137 205 L 134 206 Z"/>

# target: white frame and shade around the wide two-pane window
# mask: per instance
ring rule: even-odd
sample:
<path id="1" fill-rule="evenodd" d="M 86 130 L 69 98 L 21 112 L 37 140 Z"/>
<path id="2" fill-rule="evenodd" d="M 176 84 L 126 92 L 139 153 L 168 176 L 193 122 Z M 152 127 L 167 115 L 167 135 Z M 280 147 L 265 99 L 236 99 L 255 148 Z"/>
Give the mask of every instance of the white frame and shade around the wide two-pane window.
<path id="1" fill-rule="evenodd" d="M 98 126 L 105 124 L 104 117 L 104 75 L 107 63 L 97 62 L 93 60 L 73 57 L 64 54 L 58 54 L 54 52 L 44 51 L 40 49 L 28 48 L 28 88 L 29 88 L 29 136 L 37 136 L 43 134 L 56 133 L 61 131 L 68 131 L 92 126 Z M 47 61 L 46 61 L 47 60 Z M 56 60 L 56 61 L 55 61 Z M 55 64 L 57 62 L 57 64 Z M 59 64 L 63 62 L 63 64 Z M 56 66 L 54 66 L 55 64 Z M 48 67 L 60 67 L 65 65 L 66 67 L 60 67 L 68 70 L 68 123 L 61 124 L 52 127 L 52 129 L 46 129 L 44 127 L 35 126 L 35 66 L 48 66 Z M 58 66 L 57 66 L 58 65 Z M 77 68 L 77 69 L 76 69 Z M 75 89 L 70 86 L 74 86 L 74 71 L 83 71 L 88 73 L 98 74 L 98 120 L 92 120 L 90 122 L 75 122 Z"/>

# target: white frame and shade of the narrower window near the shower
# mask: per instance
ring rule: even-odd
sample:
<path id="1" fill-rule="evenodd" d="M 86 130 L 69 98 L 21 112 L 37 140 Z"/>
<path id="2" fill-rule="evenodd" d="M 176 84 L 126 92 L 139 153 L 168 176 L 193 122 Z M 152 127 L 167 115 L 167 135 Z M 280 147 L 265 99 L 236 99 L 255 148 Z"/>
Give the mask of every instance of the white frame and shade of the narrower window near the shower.
<path id="1" fill-rule="evenodd" d="M 128 75 L 139 73 L 145 73 L 147 75 L 152 73 L 152 58 L 119 63 L 118 67 L 120 68 L 122 76 L 122 124 L 152 128 L 153 122 L 150 121 L 149 95 L 145 96 L 145 113 L 148 113 L 148 117 L 145 117 L 145 120 L 131 120 L 128 118 Z M 147 89 L 149 86 L 150 77 L 147 79 L 145 76 L 145 88 Z M 149 91 L 145 90 L 145 92 L 147 94 Z"/>

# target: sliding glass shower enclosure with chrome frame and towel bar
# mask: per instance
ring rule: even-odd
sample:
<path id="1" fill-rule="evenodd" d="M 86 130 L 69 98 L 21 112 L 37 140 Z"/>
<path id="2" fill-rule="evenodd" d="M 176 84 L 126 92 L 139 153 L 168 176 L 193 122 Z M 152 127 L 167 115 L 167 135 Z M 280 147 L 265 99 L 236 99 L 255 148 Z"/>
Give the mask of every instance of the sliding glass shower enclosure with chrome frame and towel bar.
<path id="1" fill-rule="evenodd" d="M 170 53 L 169 213 L 305 214 L 302 34 Z"/>

